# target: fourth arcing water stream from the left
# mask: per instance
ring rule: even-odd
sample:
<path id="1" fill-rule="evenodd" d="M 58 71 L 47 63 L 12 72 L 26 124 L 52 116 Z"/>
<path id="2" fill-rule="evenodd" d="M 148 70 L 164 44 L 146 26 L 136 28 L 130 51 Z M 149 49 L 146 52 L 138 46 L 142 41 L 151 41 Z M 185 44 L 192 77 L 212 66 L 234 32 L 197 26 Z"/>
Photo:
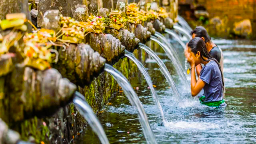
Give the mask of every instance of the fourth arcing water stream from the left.
<path id="1" fill-rule="evenodd" d="M 180 98 L 180 94 L 179 94 L 179 92 L 178 92 L 178 90 L 176 88 L 176 85 L 175 85 L 174 81 L 172 80 L 172 77 L 171 77 L 170 73 L 168 72 L 168 69 L 164 65 L 164 62 L 148 46 L 146 46 L 145 44 L 141 44 L 141 43 L 139 45 L 140 45 L 140 48 L 145 50 L 154 60 L 156 60 L 157 64 L 160 67 L 161 73 L 164 75 L 164 77 L 166 78 L 168 84 L 172 88 L 174 96 L 178 100 L 180 106 L 184 106 L 184 103 L 183 103 L 183 101 Z"/>

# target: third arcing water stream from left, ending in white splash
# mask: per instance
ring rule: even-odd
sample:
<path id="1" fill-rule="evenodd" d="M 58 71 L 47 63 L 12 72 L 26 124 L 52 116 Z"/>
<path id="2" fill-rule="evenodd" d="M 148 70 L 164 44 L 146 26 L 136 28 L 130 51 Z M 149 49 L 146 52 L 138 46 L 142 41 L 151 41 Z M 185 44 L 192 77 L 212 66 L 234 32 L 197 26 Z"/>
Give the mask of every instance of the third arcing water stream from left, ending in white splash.
<path id="1" fill-rule="evenodd" d="M 125 56 L 128 57 L 129 59 L 131 59 L 131 60 L 137 65 L 137 67 L 140 69 L 140 72 L 141 72 L 141 73 L 143 74 L 143 76 L 145 77 L 145 79 L 146 79 L 146 81 L 147 81 L 147 83 L 148 83 L 148 86 L 149 86 L 149 88 L 150 88 L 150 90 L 151 90 L 151 92 L 152 92 L 152 94 L 153 94 L 154 101 L 155 101 L 157 107 L 159 108 L 160 113 L 161 113 L 161 115 L 162 115 L 162 117 L 163 117 L 163 122 L 164 122 L 164 124 L 166 124 L 166 119 L 165 119 L 165 117 L 164 117 L 163 108 L 162 108 L 162 106 L 160 105 L 158 95 L 156 94 L 156 91 L 155 91 L 155 89 L 154 89 L 154 87 L 153 87 L 152 80 L 151 80 L 151 78 L 150 78 L 150 76 L 149 76 L 147 70 L 145 69 L 145 67 L 143 66 L 143 64 L 142 64 L 139 60 L 137 60 L 136 57 L 135 57 L 131 52 L 128 52 L 128 51 L 125 50 Z"/>

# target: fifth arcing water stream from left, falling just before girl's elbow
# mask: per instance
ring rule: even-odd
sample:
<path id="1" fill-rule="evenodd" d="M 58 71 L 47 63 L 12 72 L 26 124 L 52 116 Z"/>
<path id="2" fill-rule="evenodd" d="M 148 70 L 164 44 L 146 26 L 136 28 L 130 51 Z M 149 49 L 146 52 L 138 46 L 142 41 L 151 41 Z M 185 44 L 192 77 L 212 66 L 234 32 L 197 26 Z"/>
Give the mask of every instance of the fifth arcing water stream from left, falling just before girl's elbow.
<path id="1" fill-rule="evenodd" d="M 163 42 L 161 42 L 157 37 L 155 36 L 151 36 L 150 37 L 150 40 L 153 40 L 155 41 L 157 44 L 159 44 L 163 49 L 164 49 L 164 52 L 167 54 L 168 58 L 170 60 L 172 60 L 172 63 L 174 65 L 174 68 L 176 69 L 178 75 L 180 76 L 180 78 L 182 79 L 182 83 L 183 85 L 185 85 L 185 88 L 186 90 L 189 90 L 190 89 L 190 86 L 188 84 L 188 80 L 184 74 L 184 70 L 181 68 L 181 64 L 179 64 L 177 61 L 177 59 L 175 59 L 175 57 L 173 56 L 170 48 L 168 48 L 168 46 L 166 44 L 164 44 Z M 163 39 L 164 41 L 164 39 Z"/>

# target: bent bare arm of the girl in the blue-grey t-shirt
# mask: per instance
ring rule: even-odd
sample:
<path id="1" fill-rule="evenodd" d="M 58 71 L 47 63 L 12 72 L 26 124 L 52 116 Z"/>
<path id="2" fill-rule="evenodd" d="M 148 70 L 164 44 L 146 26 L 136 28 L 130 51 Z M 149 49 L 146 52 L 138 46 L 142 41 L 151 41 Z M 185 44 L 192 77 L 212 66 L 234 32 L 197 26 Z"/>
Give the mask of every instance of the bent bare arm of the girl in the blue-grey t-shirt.
<path id="1" fill-rule="evenodd" d="M 205 82 L 202 81 L 200 78 L 198 78 L 198 81 L 196 81 L 196 72 L 195 72 L 195 66 L 191 67 L 191 95 L 194 97 L 196 96 L 203 88 L 204 88 Z"/>

